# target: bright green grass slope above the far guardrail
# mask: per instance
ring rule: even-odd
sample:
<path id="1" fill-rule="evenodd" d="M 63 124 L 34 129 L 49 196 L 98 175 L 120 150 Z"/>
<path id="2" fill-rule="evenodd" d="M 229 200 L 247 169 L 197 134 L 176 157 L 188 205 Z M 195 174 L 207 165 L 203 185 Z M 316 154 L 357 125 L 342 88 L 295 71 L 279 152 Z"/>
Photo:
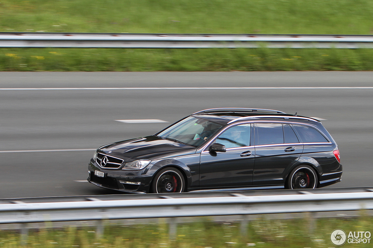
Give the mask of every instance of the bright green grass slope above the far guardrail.
<path id="1" fill-rule="evenodd" d="M 0 31 L 372 34 L 372 0 L 1 0 Z"/>

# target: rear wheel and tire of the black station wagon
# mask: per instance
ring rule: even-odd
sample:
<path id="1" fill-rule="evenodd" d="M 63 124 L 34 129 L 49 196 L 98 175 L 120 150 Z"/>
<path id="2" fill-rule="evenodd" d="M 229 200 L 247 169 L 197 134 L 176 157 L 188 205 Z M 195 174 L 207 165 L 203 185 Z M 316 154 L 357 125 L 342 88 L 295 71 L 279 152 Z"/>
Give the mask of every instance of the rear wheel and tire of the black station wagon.
<path id="1" fill-rule="evenodd" d="M 317 187 L 316 172 L 308 165 L 300 165 L 291 171 L 286 184 L 288 189 L 315 189 Z"/>

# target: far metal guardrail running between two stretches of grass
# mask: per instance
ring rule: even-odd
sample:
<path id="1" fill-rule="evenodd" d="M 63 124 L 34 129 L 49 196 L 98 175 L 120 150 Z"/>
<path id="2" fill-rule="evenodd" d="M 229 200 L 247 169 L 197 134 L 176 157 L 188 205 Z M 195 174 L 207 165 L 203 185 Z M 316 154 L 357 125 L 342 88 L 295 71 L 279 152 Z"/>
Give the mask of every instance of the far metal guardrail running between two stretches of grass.
<path id="1" fill-rule="evenodd" d="M 0 47 L 373 48 L 373 35 L 0 32 Z"/>

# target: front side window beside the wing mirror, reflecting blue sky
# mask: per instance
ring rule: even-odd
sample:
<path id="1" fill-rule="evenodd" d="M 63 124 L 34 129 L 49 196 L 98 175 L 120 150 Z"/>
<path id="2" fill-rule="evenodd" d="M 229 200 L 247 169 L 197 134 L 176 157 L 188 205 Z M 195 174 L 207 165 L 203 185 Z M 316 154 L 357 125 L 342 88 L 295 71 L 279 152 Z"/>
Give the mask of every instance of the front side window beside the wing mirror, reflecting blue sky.
<path id="1" fill-rule="evenodd" d="M 225 148 L 250 146 L 251 125 L 242 124 L 228 128 L 216 138 L 215 142 L 225 145 Z"/>

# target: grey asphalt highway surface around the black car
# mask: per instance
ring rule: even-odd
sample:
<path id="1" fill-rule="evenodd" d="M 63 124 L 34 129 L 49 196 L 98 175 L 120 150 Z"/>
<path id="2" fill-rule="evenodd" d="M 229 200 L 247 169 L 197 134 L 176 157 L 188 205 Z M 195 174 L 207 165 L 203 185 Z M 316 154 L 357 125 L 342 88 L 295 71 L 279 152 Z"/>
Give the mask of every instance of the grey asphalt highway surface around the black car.
<path id="1" fill-rule="evenodd" d="M 81 182 L 94 153 L 89 149 L 150 135 L 193 112 L 218 107 L 326 119 L 344 165 L 342 182 L 329 187 L 373 186 L 373 89 L 316 88 L 372 86 L 373 72 L 0 72 L 0 198 L 118 193 Z M 72 87 L 139 89 L 66 89 Z M 115 121 L 127 119 L 170 123 Z M 29 152 L 54 149 L 88 151 Z"/>

